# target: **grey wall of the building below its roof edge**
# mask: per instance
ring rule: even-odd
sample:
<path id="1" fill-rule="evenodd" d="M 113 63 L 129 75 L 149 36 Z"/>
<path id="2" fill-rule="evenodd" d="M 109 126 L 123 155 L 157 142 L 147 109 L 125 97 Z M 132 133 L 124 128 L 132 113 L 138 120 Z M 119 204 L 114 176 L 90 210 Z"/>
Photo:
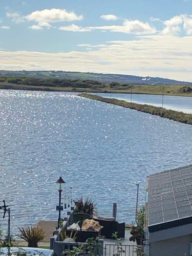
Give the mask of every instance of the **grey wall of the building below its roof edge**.
<path id="1" fill-rule="evenodd" d="M 190 256 L 190 242 L 191 234 L 153 242 L 150 243 L 148 256 Z"/>

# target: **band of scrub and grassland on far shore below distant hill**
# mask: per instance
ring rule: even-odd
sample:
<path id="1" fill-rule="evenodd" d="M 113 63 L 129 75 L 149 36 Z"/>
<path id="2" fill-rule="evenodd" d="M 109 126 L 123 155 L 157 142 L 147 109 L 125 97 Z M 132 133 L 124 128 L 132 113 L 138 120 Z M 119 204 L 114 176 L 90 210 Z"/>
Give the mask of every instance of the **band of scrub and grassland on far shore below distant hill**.
<path id="1" fill-rule="evenodd" d="M 150 86 L 81 79 L 0 77 L 0 89 L 79 93 L 124 93 L 192 96 L 192 86 Z"/>

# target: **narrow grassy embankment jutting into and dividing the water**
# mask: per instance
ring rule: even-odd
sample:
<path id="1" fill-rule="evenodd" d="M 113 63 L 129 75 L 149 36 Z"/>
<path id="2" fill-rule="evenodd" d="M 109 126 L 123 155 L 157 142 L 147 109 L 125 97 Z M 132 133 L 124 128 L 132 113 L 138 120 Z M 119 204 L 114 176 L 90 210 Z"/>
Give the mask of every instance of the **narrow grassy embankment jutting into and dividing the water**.
<path id="1" fill-rule="evenodd" d="M 87 93 L 81 93 L 77 96 L 98 100 L 105 103 L 110 103 L 118 106 L 123 106 L 124 108 L 129 108 L 132 110 L 141 111 L 144 113 L 164 117 L 170 120 L 174 120 L 181 123 L 186 124 L 192 124 L 192 115 L 191 114 L 185 114 L 183 112 L 178 112 L 174 110 L 166 110 L 159 108 L 157 106 L 147 105 L 147 104 L 138 104 L 138 103 L 130 103 L 124 100 L 118 100 L 114 98 L 104 98 L 97 95 L 87 94 Z"/>

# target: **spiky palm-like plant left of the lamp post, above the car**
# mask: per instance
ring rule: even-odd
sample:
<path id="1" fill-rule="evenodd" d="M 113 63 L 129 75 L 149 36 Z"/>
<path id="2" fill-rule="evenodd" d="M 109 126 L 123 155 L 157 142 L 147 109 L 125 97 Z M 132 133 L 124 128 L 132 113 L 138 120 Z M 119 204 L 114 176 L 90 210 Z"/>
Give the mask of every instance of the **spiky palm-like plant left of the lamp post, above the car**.
<path id="1" fill-rule="evenodd" d="M 38 247 L 38 242 L 42 242 L 46 238 L 45 231 L 37 226 L 27 226 L 18 229 L 20 233 L 17 236 L 28 242 L 28 247 Z"/>

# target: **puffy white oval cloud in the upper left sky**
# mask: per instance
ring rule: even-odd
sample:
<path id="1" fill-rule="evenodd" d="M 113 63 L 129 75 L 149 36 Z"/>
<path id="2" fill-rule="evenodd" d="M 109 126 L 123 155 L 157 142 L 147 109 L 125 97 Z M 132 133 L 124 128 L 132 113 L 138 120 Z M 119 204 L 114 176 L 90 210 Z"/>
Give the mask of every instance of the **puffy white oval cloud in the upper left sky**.
<path id="1" fill-rule="evenodd" d="M 68 12 L 65 9 L 44 9 L 34 11 L 26 16 L 27 20 L 37 23 L 72 22 L 73 20 L 81 20 L 82 18 L 82 15 L 78 16 L 74 12 Z"/>

